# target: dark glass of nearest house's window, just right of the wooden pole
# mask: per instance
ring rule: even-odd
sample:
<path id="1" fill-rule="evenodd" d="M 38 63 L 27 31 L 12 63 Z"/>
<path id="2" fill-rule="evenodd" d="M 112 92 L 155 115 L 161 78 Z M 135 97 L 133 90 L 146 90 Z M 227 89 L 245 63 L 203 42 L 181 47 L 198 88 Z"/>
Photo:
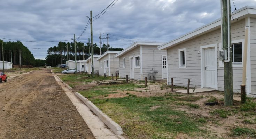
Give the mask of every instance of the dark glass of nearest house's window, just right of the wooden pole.
<path id="1" fill-rule="evenodd" d="M 232 44 L 231 47 L 233 63 L 242 63 L 242 43 Z"/>

